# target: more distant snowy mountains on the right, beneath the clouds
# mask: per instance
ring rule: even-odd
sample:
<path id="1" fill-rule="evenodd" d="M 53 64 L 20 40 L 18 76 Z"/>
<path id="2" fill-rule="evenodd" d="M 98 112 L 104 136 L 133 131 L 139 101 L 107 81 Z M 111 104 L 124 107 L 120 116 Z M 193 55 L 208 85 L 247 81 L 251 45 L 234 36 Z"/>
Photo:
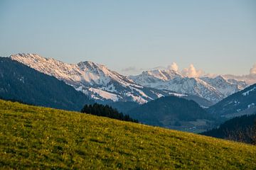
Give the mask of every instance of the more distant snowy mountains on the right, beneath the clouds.
<path id="1" fill-rule="evenodd" d="M 247 86 L 245 81 L 225 79 L 222 76 L 215 78 L 183 77 L 177 71 L 171 69 L 154 69 L 129 78 L 142 86 L 200 96 L 213 103 L 217 103 Z"/>

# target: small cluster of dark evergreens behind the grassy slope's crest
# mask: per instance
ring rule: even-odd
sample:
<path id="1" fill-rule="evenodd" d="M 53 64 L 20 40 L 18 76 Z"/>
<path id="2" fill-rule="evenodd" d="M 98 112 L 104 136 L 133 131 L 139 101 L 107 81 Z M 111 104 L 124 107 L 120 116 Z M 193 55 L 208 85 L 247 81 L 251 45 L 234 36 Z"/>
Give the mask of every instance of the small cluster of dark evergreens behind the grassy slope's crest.
<path id="1" fill-rule="evenodd" d="M 111 106 L 102 105 L 98 103 L 85 105 L 82 108 L 81 112 L 92 114 L 92 115 L 104 116 L 107 118 L 114 118 L 117 120 L 124 120 L 124 121 L 138 123 L 138 120 L 130 118 L 129 115 L 124 115 L 123 113 L 119 113 L 117 109 L 114 109 Z"/>

